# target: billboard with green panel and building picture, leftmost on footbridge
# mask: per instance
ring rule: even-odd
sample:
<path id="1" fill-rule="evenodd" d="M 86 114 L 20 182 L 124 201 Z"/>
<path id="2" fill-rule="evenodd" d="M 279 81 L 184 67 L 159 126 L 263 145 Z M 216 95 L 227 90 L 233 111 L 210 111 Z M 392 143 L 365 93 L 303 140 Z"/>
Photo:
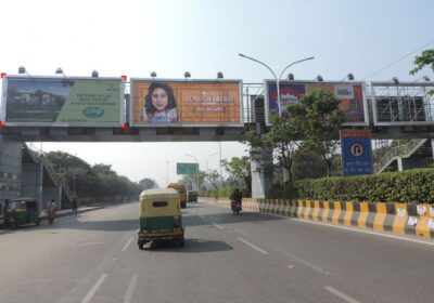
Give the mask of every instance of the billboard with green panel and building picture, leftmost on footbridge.
<path id="1" fill-rule="evenodd" d="M 2 92 L 10 126 L 103 127 L 122 123 L 120 78 L 7 77 Z"/>

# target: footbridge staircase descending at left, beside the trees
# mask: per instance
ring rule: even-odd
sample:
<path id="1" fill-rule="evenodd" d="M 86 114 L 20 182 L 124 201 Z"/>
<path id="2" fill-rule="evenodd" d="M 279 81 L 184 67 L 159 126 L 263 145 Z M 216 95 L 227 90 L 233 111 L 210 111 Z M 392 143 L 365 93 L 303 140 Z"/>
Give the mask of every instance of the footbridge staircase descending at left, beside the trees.
<path id="1" fill-rule="evenodd" d="M 71 190 L 66 180 L 62 177 L 59 173 L 56 173 L 51 161 L 43 157 L 43 153 L 38 153 L 31 149 L 28 144 L 24 143 L 23 157 L 30 157 L 31 160 L 36 163 L 41 162 L 44 171 L 48 173 L 54 185 L 62 188 L 62 193 L 65 195 L 68 201 L 73 200 L 74 192 Z"/>

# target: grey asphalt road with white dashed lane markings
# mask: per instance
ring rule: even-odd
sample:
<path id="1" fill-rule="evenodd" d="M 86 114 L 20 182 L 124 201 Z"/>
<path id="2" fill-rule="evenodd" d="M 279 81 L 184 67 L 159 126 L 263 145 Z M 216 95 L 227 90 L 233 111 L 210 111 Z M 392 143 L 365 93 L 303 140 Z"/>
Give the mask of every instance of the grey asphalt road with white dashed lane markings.
<path id="1" fill-rule="evenodd" d="M 197 203 L 184 248 L 142 251 L 138 213 L 0 232 L 0 302 L 434 302 L 434 241 Z"/>

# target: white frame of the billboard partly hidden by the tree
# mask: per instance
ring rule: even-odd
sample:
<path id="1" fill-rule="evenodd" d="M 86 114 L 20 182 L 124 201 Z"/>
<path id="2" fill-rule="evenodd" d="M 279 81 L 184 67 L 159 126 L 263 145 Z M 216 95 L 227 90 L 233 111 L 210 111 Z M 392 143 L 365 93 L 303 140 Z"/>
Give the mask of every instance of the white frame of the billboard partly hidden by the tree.
<path id="1" fill-rule="evenodd" d="M 275 79 L 264 79 L 264 95 L 265 95 L 265 121 L 266 126 L 270 126 L 270 108 L 269 108 L 269 91 L 268 91 L 268 82 L 272 82 L 276 84 Z M 339 80 L 332 80 L 332 81 L 314 81 L 314 80 L 281 80 L 279 81 L 280 84 L 289 83 L 289 84 L 350 84 L 350 85 L 361 85 L 361 95 L 362 95 L 362 102 L 363 102 L 363 118 L 365 121 L 361 122 L 345 122 L 342 126 L 343 127 L 368 127 L 369 126 L 369 108 L 368 108 L 368 100 L 367 100 L 367 84 L 363 81 L 339 81 Z"/>

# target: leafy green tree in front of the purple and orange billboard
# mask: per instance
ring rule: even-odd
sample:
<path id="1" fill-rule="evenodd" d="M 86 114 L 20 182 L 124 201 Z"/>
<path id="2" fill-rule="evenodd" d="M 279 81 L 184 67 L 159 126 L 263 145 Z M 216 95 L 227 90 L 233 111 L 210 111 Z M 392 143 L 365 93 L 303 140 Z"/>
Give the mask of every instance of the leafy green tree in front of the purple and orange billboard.
<path id="1" fill-rule="evenodd" d="M 339 100 L 322 90 L 312 91 L 288 106 L 289 119 L 303 132 L 303 147 L 321 156 L 330 176 L 332 156 L 340 146 L 339 131 L 345 116 Z"/>

